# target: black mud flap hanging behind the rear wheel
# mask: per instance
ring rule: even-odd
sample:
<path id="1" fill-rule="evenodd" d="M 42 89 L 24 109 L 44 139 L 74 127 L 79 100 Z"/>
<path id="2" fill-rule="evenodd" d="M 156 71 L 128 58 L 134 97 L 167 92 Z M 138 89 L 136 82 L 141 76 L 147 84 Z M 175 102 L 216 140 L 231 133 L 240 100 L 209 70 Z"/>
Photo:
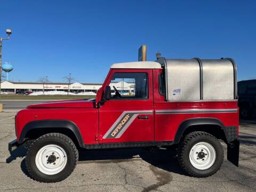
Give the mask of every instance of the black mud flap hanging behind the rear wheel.
<path id="1" fill-rule="evenodd" d="M 233 163 L 234 165 L 238 166 L 239 163 L 239 147 L 240 141 L 239 138 L 227 143 L 228 151 L 227 151 L 227 159 L 229 162 Z"/>

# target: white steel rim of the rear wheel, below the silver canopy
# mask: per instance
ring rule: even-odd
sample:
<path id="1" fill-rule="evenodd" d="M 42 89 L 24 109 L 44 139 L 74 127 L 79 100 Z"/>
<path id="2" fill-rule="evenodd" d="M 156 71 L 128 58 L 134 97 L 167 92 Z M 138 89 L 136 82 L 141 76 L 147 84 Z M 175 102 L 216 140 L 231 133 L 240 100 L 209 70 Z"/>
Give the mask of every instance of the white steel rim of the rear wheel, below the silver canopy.
<path id="1" fill-rule="evenodd" d="M 216 152 L 210 143 L 199 142 L 189 153 L 190 163 L 198 170 L 209 169 L 215 162 Z"/>

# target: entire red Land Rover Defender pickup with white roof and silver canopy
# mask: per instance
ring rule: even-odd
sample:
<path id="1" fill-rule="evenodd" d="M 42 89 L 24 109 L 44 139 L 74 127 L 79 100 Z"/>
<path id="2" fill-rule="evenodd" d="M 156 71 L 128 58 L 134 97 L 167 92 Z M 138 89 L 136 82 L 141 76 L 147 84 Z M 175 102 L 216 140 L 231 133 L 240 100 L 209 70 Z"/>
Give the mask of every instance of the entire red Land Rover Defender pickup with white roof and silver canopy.
<path id="1" fill-rule="evenodd" d="M 177 145 L 182 169 L 208 177 L 223 161 L 219 140 L 238 166 L 238 126 L 234 60 L 159 58 L 112 65 L 96 99 L 19 111 L 9 150 L 26 144 L 31 177 L 58 182 L 75 169 L 77 148 Z"/>

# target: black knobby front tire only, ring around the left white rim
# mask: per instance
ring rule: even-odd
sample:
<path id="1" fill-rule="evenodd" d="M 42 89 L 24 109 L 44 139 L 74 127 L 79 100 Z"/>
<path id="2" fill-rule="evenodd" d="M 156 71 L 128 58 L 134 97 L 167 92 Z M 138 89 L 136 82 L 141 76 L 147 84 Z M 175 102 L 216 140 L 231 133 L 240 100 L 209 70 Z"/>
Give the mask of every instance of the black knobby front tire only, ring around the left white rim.
<path id="1" fill-rule="evenodd" d="M 65 168 L 54 175 L 44 174 L 36 166 L 36 154 L 46 145 L 57 145 L 65 150 L 67 154 L 67 164 Z M 39 182 L 59 182 L 66 179 L 75 169 L 78 161 L 78 151 L 74 142 L 64 134 L 48 133 L 36 139 L 28 148 L 26 155 L 26 169 L 36 181 Z"/>

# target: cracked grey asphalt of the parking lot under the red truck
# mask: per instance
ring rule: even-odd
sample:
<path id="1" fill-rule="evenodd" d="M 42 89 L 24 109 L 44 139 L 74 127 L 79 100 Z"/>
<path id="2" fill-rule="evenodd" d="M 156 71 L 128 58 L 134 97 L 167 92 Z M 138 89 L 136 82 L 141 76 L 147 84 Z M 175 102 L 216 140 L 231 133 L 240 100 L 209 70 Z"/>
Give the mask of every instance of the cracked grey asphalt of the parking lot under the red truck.
<path id="1" fill-rule="evenodd" d="M 28 177 L 26 149 L 9 154 L 15 139 L 15 111 L 0 113 L 0 190 L 3 191 L 256 191 L 256 122 L 240 126 L 239 167 L 225 157 L 209 178 L 192 178 L 183 172 L 175 151 L 166 149 L 111 149 L 79 151 L 75 171 L 59 183 L 39 183 Z M 226 145 L 223 145 L 226 154 Z M 7 163 L 6 163 L 7 162 Z"/>

